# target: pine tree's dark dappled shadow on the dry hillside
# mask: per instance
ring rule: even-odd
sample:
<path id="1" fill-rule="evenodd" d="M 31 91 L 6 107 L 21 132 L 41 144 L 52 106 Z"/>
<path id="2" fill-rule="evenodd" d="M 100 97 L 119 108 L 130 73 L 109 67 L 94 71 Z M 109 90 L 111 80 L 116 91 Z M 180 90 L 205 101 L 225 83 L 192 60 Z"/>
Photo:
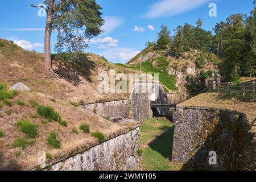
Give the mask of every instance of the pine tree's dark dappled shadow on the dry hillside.
<path id="1" fill-rule="evenodd" d="M 80 77 L 84 77 L 88 82 L 92 82 L 92 70 L 96 68 L 93 61 L 88 59 L 85 53 L 73 55 L 63 53 L 60 55 L 52 55 L 52 60 L 55 60 L 57 69 L 55 72 L 65 80 L 74 85 L 79 85 Z"/>

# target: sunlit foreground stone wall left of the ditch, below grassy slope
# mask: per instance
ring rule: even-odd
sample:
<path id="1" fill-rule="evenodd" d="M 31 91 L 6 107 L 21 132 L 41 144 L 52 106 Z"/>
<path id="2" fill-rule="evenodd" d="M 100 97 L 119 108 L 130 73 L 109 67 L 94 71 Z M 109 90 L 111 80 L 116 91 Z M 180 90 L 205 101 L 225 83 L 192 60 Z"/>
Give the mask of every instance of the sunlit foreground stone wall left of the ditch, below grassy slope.
<path id="1" fill-rule="evenodd" d="M 121 134 L 88 151 L 54 164 L 54 171 L 121 171 L 141 169 L 139 127 Z"/>

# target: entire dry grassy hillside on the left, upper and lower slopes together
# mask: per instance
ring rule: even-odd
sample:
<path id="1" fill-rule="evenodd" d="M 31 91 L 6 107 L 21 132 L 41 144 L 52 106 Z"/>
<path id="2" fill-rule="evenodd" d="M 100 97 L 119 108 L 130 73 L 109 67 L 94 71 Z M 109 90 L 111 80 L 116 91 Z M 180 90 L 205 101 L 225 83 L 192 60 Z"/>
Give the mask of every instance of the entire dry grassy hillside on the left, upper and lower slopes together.
<path id="1" fill-rule="evenodd" d="M 55 162 L 99 143 L 93 132 L 108 139 L 138 124 L 117 125 L 76 106 L 124 97 L 98 94 L 98 73 L 133 71 L 92 53 L 75 60 L 69 55 L 53 59 L 59 78 L 44 69 L 42 54 L 0 39 L 0 170 L 36 168 L 39 151 L 47 152 L 47 163 Z M 32 92 L 10 90 L 19 81 Z"/>

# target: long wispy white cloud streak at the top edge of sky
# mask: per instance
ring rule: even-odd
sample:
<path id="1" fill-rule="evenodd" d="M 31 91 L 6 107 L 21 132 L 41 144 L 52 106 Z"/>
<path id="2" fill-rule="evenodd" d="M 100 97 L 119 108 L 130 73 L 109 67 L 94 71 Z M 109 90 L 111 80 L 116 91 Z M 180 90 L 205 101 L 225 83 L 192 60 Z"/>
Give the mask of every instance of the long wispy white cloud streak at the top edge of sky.
<path id="1" fill-rule="evenodd" d="M 152 3 L 148 8 L 148 11 L 142 15 L 142 18 L 174 16 L 193 10 L 207 2 L 209 2 L 209 0 L 160 0 Z"/>

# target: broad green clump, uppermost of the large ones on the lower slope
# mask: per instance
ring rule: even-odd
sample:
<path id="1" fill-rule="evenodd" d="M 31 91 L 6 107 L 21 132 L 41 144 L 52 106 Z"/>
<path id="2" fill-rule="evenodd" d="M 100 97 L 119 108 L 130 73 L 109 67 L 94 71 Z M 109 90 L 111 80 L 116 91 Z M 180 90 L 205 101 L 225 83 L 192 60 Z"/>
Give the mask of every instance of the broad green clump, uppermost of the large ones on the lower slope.
<path id="1" fill-rule="evenodd" d="M 37 106 L 36 113 L 50 121 L 61 121 L 59 113 L 57 113 L 51 106 Z"/>

